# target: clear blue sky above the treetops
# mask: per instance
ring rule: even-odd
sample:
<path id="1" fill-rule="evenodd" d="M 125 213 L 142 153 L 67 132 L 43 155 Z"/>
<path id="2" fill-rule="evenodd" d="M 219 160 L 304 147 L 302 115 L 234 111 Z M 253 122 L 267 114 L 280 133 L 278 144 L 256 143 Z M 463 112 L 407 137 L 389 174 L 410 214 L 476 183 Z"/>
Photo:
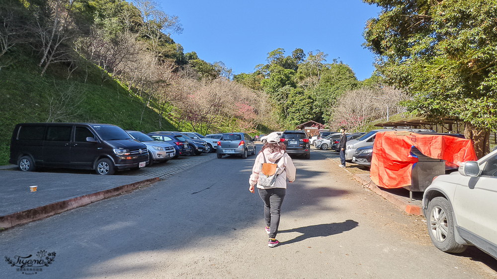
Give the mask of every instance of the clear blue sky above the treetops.
<path id="1" fill-rule="evenodd" d="M 374 55 L 361 45 L 365 22 L 380 9 L 361 0 L 158 0 L 177 15 L 184 31 L 172 34 L 184 52 L 207 62 L 223 61 L 235 74 L 253 72 L 277 48 L 291 55 L 320 50 L 342 60 L 359 80 L 371 76 Z"/>

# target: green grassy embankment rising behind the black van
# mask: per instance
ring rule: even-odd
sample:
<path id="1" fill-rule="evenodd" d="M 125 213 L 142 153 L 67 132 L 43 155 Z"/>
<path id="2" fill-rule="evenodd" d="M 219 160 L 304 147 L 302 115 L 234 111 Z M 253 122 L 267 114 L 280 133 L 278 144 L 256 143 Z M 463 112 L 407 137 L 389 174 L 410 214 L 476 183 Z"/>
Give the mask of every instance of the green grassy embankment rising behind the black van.
<path id="1" fill-rule="evenodd" d="M 102 83 L 100 69 L 95 65 L 88 65 L 84 82 L 84 65 L 77 68 L 69 79 L 68 69 L 63 64 L 49 67 L 41 77 L 36 59 L 26 50 L 16 50 L 10 57 L 2 58 L 15 58 L 15 63 L 0 71 L 0 165 L 8 164 L 14 126 L 22 122 L 49 121 L 51 109 L 62 110 L 59 114 L 65 116 L 56 122 L 110 123 L 145 132 L 177 130 L 164 118 L 160 127 L 159 114 L 146 107 L 140 98 L 130 94 L 116 80 L 108 79 Z M 60 101 L 62 98 L 66 98 L 67 103 Z M 228 129 L 213 127 L 211 130 Z"/>

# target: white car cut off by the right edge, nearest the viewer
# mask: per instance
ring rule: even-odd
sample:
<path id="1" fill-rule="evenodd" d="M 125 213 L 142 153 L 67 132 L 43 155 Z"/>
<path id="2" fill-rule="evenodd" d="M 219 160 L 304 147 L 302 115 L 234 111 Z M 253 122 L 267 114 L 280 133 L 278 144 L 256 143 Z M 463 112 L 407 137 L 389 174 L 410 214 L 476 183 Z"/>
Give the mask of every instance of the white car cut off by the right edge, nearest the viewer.
<path id="1" fill-rule="evenodd" d="M 423 195 L 433 244 L 448 253 L 474 245 L 497 259 L 497 151 L 437 176 Z"/>

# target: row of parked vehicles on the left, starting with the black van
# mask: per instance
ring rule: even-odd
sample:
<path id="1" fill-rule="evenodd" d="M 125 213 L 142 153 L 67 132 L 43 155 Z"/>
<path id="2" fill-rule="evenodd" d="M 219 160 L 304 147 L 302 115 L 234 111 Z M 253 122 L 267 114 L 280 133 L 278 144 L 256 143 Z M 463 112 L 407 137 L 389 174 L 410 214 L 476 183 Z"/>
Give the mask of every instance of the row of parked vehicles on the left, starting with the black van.
<path id="1" fill-rule="evenodd" d="M 218 148 L 218 144 L 225 141 L 223 137 L 237 137 L 235 134 L 240 137 L 236 148 L 231 148 L 234 139 L 230 139 L 229 148 Z M 12 133 L 9 163 L 22 171 L 64 167 L 94 169 L 106 175 L 209 152 L 218 152 L 218 157 L 241 154 L 246 158 L 248 153 L 255 154 L 255 144 L 245 133 L 203 136 L 193 132 L 158 131 L 145 134 L 111 124 L 21 123 Z"/>

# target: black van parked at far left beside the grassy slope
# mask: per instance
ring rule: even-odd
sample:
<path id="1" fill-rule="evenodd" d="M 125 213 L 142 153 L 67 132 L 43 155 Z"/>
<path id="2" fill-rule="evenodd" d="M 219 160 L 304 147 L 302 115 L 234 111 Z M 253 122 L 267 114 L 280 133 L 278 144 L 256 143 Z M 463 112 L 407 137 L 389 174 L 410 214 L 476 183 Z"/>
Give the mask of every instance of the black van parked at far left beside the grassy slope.
<path id="1" fill-rule="evenodd" d="M 148 160 L 147 146 L 115 125 L 21 123 L 12 133 L 8 162 L 22 171 L 68 167 L 113 174 L 144 167 Z"/>

